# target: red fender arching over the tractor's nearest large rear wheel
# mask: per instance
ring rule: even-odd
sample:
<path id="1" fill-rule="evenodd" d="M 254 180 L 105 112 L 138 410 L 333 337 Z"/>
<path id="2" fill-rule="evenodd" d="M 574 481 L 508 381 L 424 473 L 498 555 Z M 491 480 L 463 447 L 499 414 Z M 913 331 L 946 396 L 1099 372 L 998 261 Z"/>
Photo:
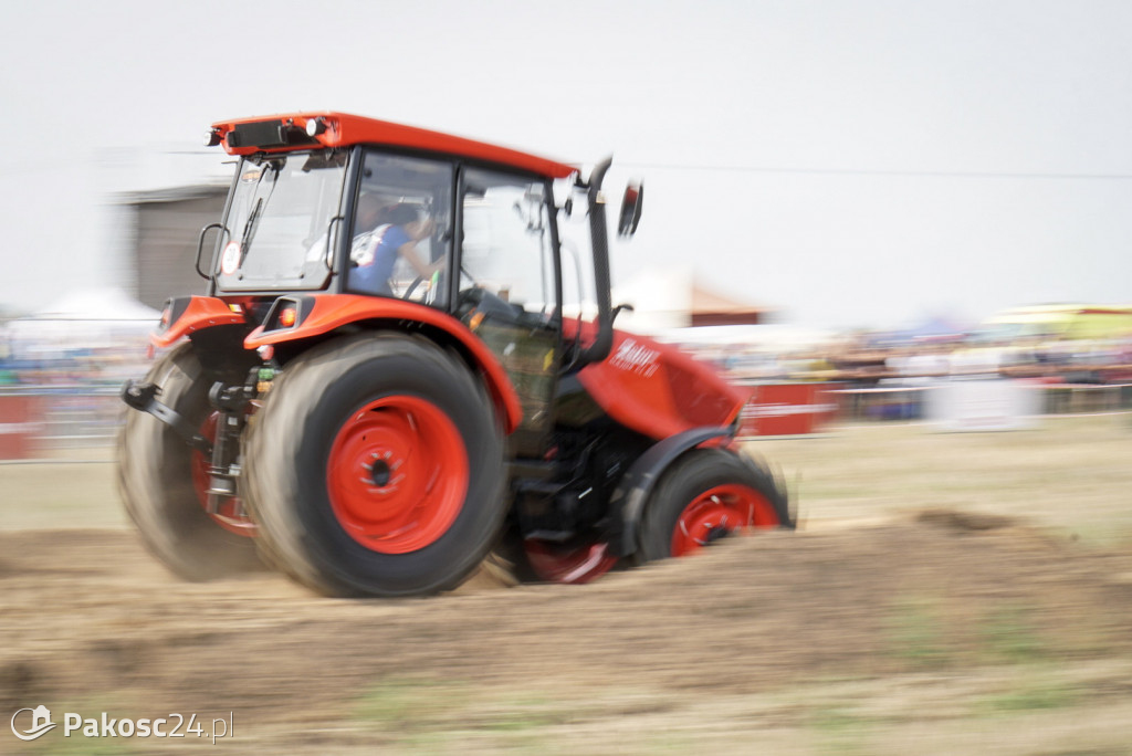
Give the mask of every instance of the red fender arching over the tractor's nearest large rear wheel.
<path id="1" fill-rule="evenodd" d="M 284 318 L 284 312 L 288 310 L 291 312 Z M 424 304 L 360 294 L 281 297 L 275 300 L 263 325 L 256 327 L 243 340 L 243 346 L 255 350 L 271 344 L 300 341 L 363 320 L 426 325 L 452 337 L 470 355 L 473 364 L 483 371 L 488 393 L 499 411 L 504 430 L 511 433 L 518 427 L 523 419 L 523 407 L 518 402 L 518 394 L 507 378 L 507 372 L 495 354 L 464 324 Z M 288 321 L 291 324 L 284 325 Z"/>

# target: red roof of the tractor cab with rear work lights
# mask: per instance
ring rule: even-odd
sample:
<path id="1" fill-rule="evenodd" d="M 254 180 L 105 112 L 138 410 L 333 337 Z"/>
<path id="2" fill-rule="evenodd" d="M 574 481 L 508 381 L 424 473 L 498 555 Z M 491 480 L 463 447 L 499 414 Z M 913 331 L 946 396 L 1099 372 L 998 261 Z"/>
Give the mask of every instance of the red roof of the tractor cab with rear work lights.
<path id="1" fill-rule="evenodd" d="M 573 165 L 507 147 L 333 111 L 218 121 L 212 126 L 209 144 L 223 145 L 230 155 L 371 144 L 471 157 L 551 179 L 565 179 L 577 171 Z"/>

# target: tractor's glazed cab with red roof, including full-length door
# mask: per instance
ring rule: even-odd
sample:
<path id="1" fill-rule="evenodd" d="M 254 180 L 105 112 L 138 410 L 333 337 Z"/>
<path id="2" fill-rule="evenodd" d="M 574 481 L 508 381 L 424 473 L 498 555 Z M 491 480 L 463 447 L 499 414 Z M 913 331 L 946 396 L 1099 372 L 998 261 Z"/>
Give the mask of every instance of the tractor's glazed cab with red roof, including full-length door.
<path id="1" fill-rule="evenodd" d="M 362 138 L 360 128 L 394 144 L 340 144 L 351 129 Z M 209 141 L 241 160 L 224 220 L 206 230 L 215 234 L 209 293 L 267 321 L 281 295 L 319 293 L 377 298 L 375 317 L 381 300 L 453 316 L 515 388 L 522 421 L 512 447 L 541 454 L 557 376 L 602 359 L 611 342 L 601 333 L 612 321 L 604 213 L 586 207 L 608 163 L 588 184 L 573 166 L 496 147 L 483 146 L 483 160 L 470 160 L 466 144 L 460 155 L 431 153 L 452 145 L 419 130 L 406 149 L 404 129 L 341 114 L 214 127 Z M 626 191 L 624 235 L 636 229 L 640 199 L 638 187 Z M 559 216 L 573 231 L 565 252 Z M 584 344 L 576 327 L 564 338 L 564 317 L 595 318 L 599 329 Z"/>

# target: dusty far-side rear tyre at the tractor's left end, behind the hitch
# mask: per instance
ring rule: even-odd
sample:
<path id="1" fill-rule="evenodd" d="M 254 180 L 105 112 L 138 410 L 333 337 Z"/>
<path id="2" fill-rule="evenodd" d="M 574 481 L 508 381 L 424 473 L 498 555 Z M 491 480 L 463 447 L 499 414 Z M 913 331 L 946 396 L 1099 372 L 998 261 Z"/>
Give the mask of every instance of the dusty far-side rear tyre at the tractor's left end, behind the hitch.
<path id="1" fill-rule="evenodd" d="M 194 428 L 206 424 L 211 380 L 189 343 L 163 355 L 146 380 L 157 401 Z M 238 535 L 204 507 L 200 452 L 147 412 L 129 410 L 118 437 L 118 489 L 146 547 L 175 575 L 207 581 L 263 569 L 252 539 Z M 194 466 L 197 475 L 194 475 Z"/>

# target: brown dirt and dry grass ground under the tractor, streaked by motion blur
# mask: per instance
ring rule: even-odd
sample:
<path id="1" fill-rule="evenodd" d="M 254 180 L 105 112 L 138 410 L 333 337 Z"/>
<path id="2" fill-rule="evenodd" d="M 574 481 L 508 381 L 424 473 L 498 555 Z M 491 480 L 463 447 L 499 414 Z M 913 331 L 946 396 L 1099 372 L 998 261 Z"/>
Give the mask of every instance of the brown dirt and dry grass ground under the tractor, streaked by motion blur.
<path id="1" fill-rule="evenodd" d="M 112 465 L 0 466 L 0 711 L 60 722 L 0 753 L 1132 754 L 1132 418 L 749 450 L 798 532 L 401 601 L 178 582 Z M 63 712 L 231 732 L 67 738 Z"/>

